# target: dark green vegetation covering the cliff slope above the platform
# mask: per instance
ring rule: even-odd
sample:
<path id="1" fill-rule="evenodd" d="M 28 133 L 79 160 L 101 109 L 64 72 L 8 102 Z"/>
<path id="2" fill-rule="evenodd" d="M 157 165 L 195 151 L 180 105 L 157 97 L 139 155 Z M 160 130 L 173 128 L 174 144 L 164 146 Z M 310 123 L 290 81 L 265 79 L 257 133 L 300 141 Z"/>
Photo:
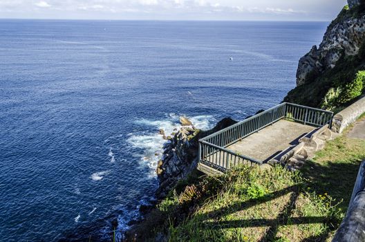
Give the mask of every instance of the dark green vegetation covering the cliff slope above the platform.
<path id="1" fill-rule="evenodd" d="M 353 10 L 349 10 L 346 6 L 328 26 L 328 29 L 333 28 L 335 24 L 341 23 L 344 19 L 364 14 L 364 6 Z M 347 56 L 342 53 L 334 68 L 326 69 L 323 73 L 312 71 L 308 74 L 308 82 L 292 89 L 284 101 L 330 110 L 346 106 L 348 102 L 365 93 L 365 84 L 363 84 L 365 79 L 362 80 L 362 87 L 357 82 L 359 75 L 364 78 L 363 70 L 365 70 L 365 42 L 355 56 Z"/>

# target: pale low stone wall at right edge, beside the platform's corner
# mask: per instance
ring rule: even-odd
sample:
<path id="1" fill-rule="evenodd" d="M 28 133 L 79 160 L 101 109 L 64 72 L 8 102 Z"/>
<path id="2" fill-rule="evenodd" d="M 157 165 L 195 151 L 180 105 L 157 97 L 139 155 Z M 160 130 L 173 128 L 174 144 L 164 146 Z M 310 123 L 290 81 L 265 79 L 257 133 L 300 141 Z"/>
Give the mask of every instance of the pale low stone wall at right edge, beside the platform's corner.
<path id="1" fill-rule="evenodd" d="M 357 102 L 351 104 L 346 109 L 337 113 L 332 120 L 332 131 L 342 133 L 348 125 L 352 124 L 359 118 L 362 113 L 365 113 L 365 96 L 361 97 Z"/>

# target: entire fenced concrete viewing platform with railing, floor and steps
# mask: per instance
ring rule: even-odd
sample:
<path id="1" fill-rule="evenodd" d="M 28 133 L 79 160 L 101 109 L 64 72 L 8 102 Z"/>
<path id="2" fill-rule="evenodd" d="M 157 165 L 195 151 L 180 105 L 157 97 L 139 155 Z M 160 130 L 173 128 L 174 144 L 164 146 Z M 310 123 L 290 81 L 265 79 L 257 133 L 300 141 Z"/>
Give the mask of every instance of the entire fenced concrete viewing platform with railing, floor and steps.
<path id="1" fill-rule="evenodd" d="M 332 118 L 330 111 L 283 102 L 200 139 L 198 169 L 214 174 L 270 160 L 296 167 L 321 146 L 318 137 L 331 127 Z"/>

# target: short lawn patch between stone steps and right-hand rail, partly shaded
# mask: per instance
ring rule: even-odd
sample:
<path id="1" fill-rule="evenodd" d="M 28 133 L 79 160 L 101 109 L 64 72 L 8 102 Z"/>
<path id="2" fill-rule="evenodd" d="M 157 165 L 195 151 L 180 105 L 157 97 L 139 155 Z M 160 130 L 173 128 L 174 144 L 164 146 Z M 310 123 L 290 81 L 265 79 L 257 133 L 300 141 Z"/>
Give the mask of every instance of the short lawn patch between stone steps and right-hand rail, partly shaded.
<path id="1" fill-rule="evenodd" d="M 364 118 L 365 113 L 359 120 Z M 344 135 L 328 141 L 326 147 L 301 169 L 313 189 L 328 192 L 337 201 L 342 201 L 339 205 L 342 210 L 347 209 L 360 162 L 365 160 L 365 140 L 347 138 L 350 128 Z"/>

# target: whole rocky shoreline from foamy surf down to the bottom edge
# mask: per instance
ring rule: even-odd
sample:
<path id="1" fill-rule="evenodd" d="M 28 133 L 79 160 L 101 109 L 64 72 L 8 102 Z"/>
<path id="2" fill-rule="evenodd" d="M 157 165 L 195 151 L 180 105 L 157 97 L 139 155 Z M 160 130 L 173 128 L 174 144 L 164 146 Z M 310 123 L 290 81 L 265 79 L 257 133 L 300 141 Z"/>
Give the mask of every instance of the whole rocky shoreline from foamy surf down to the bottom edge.
<path id="1" fill-rule="evenodd" d="M 151 201 L 150 205 L 140 206 L 140 221 L 129 223 L 131 229 L 124 234 L 126 238 L 124 241 L 143 241 L 148 237 L 145 227 L 151 227 L 153 223 L 157 223 L 158 218 L 155 217 L 154 212 L 159 201 L 162 201 L 174 189 L 179 180 L 187 178 L 191 172 L 196 171 L 198 140 L 235 123 L 236 121 L 231 118 L 224 118 L 213 129 L 202 131 L 196 129 L 187 118 L 180 117 L 181 128 L 176 130 L 176 133 L 168 134 L 160 129 L 159 133 L 167 142 L 163 147 L 163 155 L 156 169 L 159 181 L 159 187 L 156 190 L 158 201 Z M 161 238 L 157 241 L 164 241 L 163 235 L 160 234 L 159 236 Z"/>

